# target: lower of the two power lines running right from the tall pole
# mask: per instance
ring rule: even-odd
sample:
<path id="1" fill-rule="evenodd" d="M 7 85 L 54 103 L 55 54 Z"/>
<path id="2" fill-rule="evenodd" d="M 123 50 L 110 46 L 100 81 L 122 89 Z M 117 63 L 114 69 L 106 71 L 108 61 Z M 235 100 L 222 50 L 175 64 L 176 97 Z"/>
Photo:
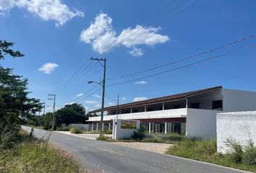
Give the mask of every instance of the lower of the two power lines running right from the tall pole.
<path id="1" fill-rule="evenodd" d="M 129 81 L 122 81 L 122 82 L 119 82 L 119 83 L 116 83 L 116 84 L 110 84 L 110 85 L 108 85 L 108 86 L 115 86 L 115 85 L 119 85 L 119 84 L 126 84 L 126 83 L 129 83 L 129 82 L 132 82 L 132 81 L 137 81 L 137 80 L 140 80 L 140 79 L 146 79 L 146 78 L 150 78 L 150 77 L 157 76 L 157 75 L 160 75 L 160 74 L 166 74 L 166 73 L 168 73 L 168 72 L 170 72 L 170 71 L 176 71 L 176 70 L 181 69 L 181 68 L 186 68 L 186 67 L 189 67 L 189 66 L 194 66 L 194 65 L 196 65 L 196 64 L 198 64 L 198 63 L 203 63 L 203 62 L 205 62 L 205 61 L 210 61 L 210 60 L 213 60 L 213 59 L 215 59 L 215 58 L 220 58 L 220 57 L 222 57 L 222 56 L 227 56 L 227 55 L 230 55 L 230 54 L 233 54 L 233 53 L 242 51 L 242 50 L 244 50 L 244 49 L 246 49 L 246 48 L 252 48 L 252 47 L 255 46 L 255 45 L 256 45 L 256 44 L 252 44 L 252 45 L 243 47 L 243 48 L 241 48 L 241 49 L 239 49 L 239 50 L 234 50 L 234 51 L 231 51 L 231 52 L 229 52 L 229 53 L 223 53 L 223 54 L 221 54 L 221 55 L 219 55 L 219 56 L 213 56 L 213 57 L 211 57 L 211 58 L 206 58 L 206 59 L 204 59 L 204 60 L 197 61 L 197 62 L 195 62 L 195 63 L 189 63 L 189 64 L 187 64 L 187 65 L 185 65 L 185 66 L 179 66 L 179 67 L 177 67 L 177 68 L 172 68 L 172 69 L 167 70 L 167 71 L 161 71 L 161 72 L 156 73 L 156 74 L 151 74 L 151 75 L 148 75 L 148 76 L 143 76 L 143 77 L 140 77 L 140 78 L 137 78 L 137 79 L 132 79 L 132 80 L 129 80 Z"/>

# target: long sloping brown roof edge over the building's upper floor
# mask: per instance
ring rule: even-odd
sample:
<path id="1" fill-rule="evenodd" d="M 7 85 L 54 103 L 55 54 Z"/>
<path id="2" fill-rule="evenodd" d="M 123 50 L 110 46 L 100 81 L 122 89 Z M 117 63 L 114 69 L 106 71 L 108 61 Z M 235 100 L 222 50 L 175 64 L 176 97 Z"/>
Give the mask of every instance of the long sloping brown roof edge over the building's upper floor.
<path id="1" fill-rule="evenodd" d="M 124 109 L 124 108 L 128 108 L 128 107 L 138 107 L 138 106 L 150 105 L 150 104 L 155 104 L 155 103 L 160 103 L 160 102 L 169 102 L 169 101 L 174 101 L 177 99 L 178 100 L 186 99 L 189 96 L 192 96 L 195 94 L 202 94 L 203 92 L 210 92 L 215 89 L 222 89 L 222 86 L 215 86 L 215 87 L 206 88 L 206 89 L 199 89 L 199 90 L 195 90 L 192 92 L 184 92 L 184 93 L 180 93 L 180 94 L 168 95 L 165 97 L 158 97 L 158 98 L 154 98 L 154 99 L 146 99 L 146 100 L 142 100 L 142 101 L 138 101 L 138 102 L 129 102 L 129 103 L 119 105 L 118 108 Z M 117 108 L 117 106 L 104 107 L 104 111 L 116 110 L 116 108 Z M 101 112 L 101 109 L 92 110 L 89 113 L 94 113 L 94 112 Z"/>

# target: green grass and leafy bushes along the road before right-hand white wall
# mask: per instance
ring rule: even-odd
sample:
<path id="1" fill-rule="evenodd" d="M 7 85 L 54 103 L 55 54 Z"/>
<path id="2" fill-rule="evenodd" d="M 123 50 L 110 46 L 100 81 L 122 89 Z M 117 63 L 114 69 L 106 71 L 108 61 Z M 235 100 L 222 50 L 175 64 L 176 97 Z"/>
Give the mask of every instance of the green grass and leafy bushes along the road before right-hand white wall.
<path id="1" fill-rule="evenodd" d="M 217 152 L 216 139 L 202 141 L 198 138 L 185 138 L 168 148 L 166 154 L 256 172 L 256 148 L 253 144 L 249 143 L 243 148 L 229 141 L 229 145 L 232 150 L 228 154 L 220 154 Z"/>

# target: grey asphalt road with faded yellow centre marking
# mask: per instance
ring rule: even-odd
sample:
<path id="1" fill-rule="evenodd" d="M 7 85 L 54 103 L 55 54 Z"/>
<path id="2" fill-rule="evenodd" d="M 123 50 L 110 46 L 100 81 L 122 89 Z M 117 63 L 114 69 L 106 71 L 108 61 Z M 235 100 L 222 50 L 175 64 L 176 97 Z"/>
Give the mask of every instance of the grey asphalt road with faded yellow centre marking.
<path id="1" fill-rule="evenodd" d="M 22 128 L 30 132 L 30 128 L 24 126 Z M 46 130 L 34 130 L 34 135 L 38 138 L 46 138 L 48 134 L 49 132 Z M 74 154 L 77 160 L 82 164 L 82 167 L 102 169 L 104 173 L 243 172 L 200 161 L 142 151 L 136 148 L 119 146 L 103 141 L 93 141 L 87 138 L 69 136 L 56 132 L 51 134 L 50 141 Z"/>

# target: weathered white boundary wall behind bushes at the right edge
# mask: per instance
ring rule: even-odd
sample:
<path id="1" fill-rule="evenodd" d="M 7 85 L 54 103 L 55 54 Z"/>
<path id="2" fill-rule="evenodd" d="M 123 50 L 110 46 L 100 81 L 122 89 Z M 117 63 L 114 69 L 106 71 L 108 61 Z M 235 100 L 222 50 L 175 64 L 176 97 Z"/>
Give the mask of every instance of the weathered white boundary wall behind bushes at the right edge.
<path id="1" fill-rule="evenodd" d="M 218 152 L 230 150 L 225 145 L 226 139 L 247 145 L 249 139 L 256 146 L 256 111 L 217 113 L 217 148 Z"/>

